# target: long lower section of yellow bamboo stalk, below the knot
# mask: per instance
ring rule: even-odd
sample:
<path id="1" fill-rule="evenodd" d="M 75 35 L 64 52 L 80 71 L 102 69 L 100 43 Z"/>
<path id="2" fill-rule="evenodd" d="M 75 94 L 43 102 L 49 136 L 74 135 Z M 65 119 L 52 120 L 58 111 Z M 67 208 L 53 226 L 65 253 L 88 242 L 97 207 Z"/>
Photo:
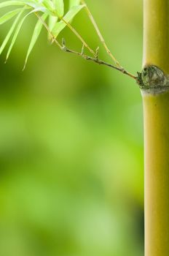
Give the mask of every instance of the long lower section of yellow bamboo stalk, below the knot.
<path id="1" fill-rule="evenodd" d="M 169 255 L 169 92 L 144 94 L 145 255 Z"/>

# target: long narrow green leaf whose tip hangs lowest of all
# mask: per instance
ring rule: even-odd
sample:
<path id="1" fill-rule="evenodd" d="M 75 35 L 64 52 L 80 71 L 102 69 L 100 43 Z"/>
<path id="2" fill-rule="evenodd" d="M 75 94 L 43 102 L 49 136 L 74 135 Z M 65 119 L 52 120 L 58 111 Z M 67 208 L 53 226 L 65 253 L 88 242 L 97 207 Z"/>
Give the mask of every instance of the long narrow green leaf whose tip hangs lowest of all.
<path id="1" fill-rule="evenodd" d="M 42 20 L 46 20 L 47 14 L 44 13 L 44 15 L 42 15 L 41 18 L 42 18 Z M 34 28 L 34 33 L 33 33 L 32 38 L 31 38 L 31 42 L 30 42 L 30 45 L 29 45 L 29 48 L 28 48 L 27 55 L 25 57 L 25 65 L 26 65 L 26 63 L 28 61 L 28 56 L 30 55 L 32 49 L 34 48 L 34 45 L 35 45 L 35 43 L 36 43 L 36 41 L 37 41 L 37 39 L 39 37 L 39 34 L 42 31 L 42 26 L 43 26 L 42 20 L 39 19 L 37 21 L 37 23 L 36 23 L 35 28 Z M 25 69 L 25 65 L 24 65 L 23 69 Z"/>

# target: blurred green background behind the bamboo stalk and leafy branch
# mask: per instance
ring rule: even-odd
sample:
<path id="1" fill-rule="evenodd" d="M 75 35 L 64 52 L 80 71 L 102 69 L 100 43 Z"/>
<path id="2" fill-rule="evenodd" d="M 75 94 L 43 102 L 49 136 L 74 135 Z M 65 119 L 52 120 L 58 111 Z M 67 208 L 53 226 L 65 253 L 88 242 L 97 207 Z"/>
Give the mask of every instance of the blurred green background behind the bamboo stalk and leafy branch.
<path id="1" fill-rule="evenodd" d="M 87 0 L 112 53 L 141 70 L 142 1 Z M 0 58 L 0 255 L 144 255 L 141 94 L 134 80 L 47 43 L 36 18 Z M 0 27 L 1 42 L 11 22 Z M 100 45 L 86 13 L 73 25 Z M 70 48 L 81 43 L 65 29 Z M 101 59 L 111 61 L 101 47 Z"/>

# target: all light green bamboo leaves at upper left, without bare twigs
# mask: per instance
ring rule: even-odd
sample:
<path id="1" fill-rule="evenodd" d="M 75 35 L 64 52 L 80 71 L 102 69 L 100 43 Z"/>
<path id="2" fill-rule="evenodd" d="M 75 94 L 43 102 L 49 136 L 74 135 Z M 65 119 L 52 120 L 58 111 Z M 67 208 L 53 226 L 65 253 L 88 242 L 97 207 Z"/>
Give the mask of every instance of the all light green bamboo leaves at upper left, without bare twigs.
<path id="1" fill-rule="evenodd" d="M 23 8 L 16 8 L 18 6 L 23 6 Z M 28 47 L 28 52 L 25 59 L 26 64 L 28 61 L 28 56 L 39 38 L 43 25 L 48 31 L 48 39 L 52 41 L 52 38 L 58 37 L 58 34 L 60 34 L 60 32 L 63 31 L 66 26 L 68 26 L 68 23 L 70 23 L 71 20 L 73 20 L 73 18 L 79 13 L 79 11 L 82 10 L 84 4 L 81 4 L 81 1 L 79 0 L 69 0 L 69 8 L 67 13 L 64 12 L 63 0 L 2 1 L 0 3 L 0 9 L 4 7 L 13 7 L 14 10 L 7 11 L 3 16 L 1 16 L 0 25 L 14 18 L 15 15 L 18 14 L 0 48 L 1 54 L 6 47 L 7 42 L 9 42 L 9 39 L 12 37 L 12 41 L 7 51 L 7 59 L 9 58 L 9 54 L 15 45 L 17 35 L 19 34 L 25 19 L 31 14 L 36 15 L 36 17 L 39 18 L 35 25 L 34 34 Z M 26 13 L 23 15 L 23 12 Z M 47 23 L 44 21 L 46 19 L 48 19 Z"/>

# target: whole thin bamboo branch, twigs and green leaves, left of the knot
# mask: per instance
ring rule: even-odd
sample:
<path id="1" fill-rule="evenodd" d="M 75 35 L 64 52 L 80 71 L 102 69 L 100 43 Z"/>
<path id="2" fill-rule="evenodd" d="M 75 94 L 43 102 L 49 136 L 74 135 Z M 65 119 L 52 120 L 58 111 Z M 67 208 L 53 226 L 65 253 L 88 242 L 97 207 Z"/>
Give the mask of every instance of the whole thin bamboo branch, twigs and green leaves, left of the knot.
<path id="1" fill-rule="evenodd" d="M 25 56 L 25 65 L 28 61 L 28 57 L 30 56 L 31 51 L 34 48 L 37 39 L 39 38 L 39 34 L 41 33 L 42 28 L 44 27 L 45 29 L 47 29 L 48 39 L 50 40 L 50 42 L 55 42 L 55 44 L 58 45 L 58 47 L 61 50 L 64 50 L 67 53 L 74 53 L 75 55 L 81 56 L 83 59 L 86 59 L 88 61 L 93 61 L 97 64 L 106 65 L 107 67 L 117 69 L 119 72 L 122 72 L 123 74 L 130 76 L 130 78 L 133 78 L 135 80 L 137 79 L 135 75 L 128 72 L 124 67 L 122 67 L 119 64 L 119 61 L 115 59 L 114 55 L 111 53 L 111 50 L 109 50 L 108 46 L 106 45 L 106 42 L 103 39 L 101 31 L 98 28 L 98 25 L 95 22 L 95 19 L 93 18 L 92 13 L 90 12 L 84 0 L 68 0 L 68 11 L 66 12 L 64 0 L 2 0 L 0 2 L 0 9 L 8 9 L 8 7 L 12 7 L 12 10 L 5 12 L 5 14 L 0 17 L 0 25 L 6 23 L 8 20 L 11 20 L 12 18 L 15 18 L 13 20 L 12 26 L 10 27 L 7 33 L 7 36 L 4 38 L 4 41 L 0 46 L 1 54 L 4 48 L 7 46 L 7 43 L 10 42 L 9 48 L 7 50 L 6 61 L 9 58 L 11 50 L 15 45 L 17 36 L 26 18 L 28 18 L 28 16 L 30 15 L 36 15 L 38 20 L 36 21 L 36 24 L 34 26 L 31 42 L 28 46 L 28 51 Z M 98 38 L 100 39 L 103 48 L 105 48 L 106 53 L 111 58 L 111 61 L 114 61 L 114 65 L 99 59 L 99 47 L 96 48 L 96 50 L 90 48 L 90 46 L 87 44 L 87 42 L 85 42 L 85 40 L 76 31 L 76 29 L 74 29 L 74 27 L 71 26 L 71 20 L 73 20 L 74 17 L 83 8 L 87 12 L 88 18 L 90 19 L 91 23 L 93 23 L 93 27 L 95 29 L 96 34 L 98 34 Z M 68 49 L 66 47 L 64 39 L 62 43 L 58 42 L 58 34 L 60 34 L 60 32 L 63 31 L 63 29 L 65 29 L 66 26 L 68 26 L 68 28 L 71 29 L 71 31 L 76 35 L 76 37 L 82 42 L 81 52 Z M 90 55 L 86 55 L 84 53 L 84 48 L 88 50 Z M 25 65 L 23 69 L 25 69 Z"/>

